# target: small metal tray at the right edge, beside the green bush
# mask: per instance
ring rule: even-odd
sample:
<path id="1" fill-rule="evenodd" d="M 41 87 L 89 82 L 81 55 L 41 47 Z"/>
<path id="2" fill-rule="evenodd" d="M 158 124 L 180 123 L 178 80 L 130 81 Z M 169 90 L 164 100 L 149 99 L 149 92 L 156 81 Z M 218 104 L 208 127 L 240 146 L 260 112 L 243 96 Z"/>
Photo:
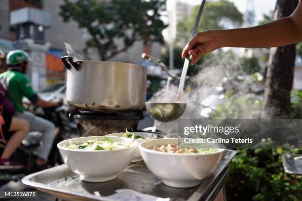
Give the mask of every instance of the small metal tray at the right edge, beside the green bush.
<path id="1" fill-rule="evenodd" d="M 298 154 L 282 155 L 283 167 L 285 172 L 289 174 L 302 176 L 302 159 L 297 160 L 297 157 L 302 157 L 302 155 L 298 155 Z"/>

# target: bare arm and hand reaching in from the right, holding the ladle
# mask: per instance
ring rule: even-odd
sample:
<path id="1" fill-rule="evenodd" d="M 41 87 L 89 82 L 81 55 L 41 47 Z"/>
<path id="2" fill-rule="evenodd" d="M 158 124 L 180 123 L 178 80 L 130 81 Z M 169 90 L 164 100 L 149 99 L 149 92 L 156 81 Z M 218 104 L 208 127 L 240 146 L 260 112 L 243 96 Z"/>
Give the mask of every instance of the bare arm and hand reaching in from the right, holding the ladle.
<path id="1" fill-rule="evenodd" d="M 198 59 L 221 47 L 276 47 L 294 44 L 302 40 L 302 3 L 289 17 L 250 28 L 209 30 L 198 33 L 183 50 L 189 53 L 192 65 Z"/>

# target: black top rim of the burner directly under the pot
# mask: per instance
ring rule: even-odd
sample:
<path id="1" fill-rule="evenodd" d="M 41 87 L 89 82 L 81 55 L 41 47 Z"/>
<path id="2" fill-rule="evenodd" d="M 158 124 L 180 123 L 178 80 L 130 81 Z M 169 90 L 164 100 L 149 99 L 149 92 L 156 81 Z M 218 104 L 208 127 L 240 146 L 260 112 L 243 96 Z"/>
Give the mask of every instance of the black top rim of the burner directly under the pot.
<path id="1" fill-rule="evenodd" d="M 86 120 L 142 120 L 144 119 L 142 110 L 133 111 L 115 111 L 113 113 L 102 112 L 90 112 L 72 110 L 71 117 L 74 119 L 86 119 Z"/>

